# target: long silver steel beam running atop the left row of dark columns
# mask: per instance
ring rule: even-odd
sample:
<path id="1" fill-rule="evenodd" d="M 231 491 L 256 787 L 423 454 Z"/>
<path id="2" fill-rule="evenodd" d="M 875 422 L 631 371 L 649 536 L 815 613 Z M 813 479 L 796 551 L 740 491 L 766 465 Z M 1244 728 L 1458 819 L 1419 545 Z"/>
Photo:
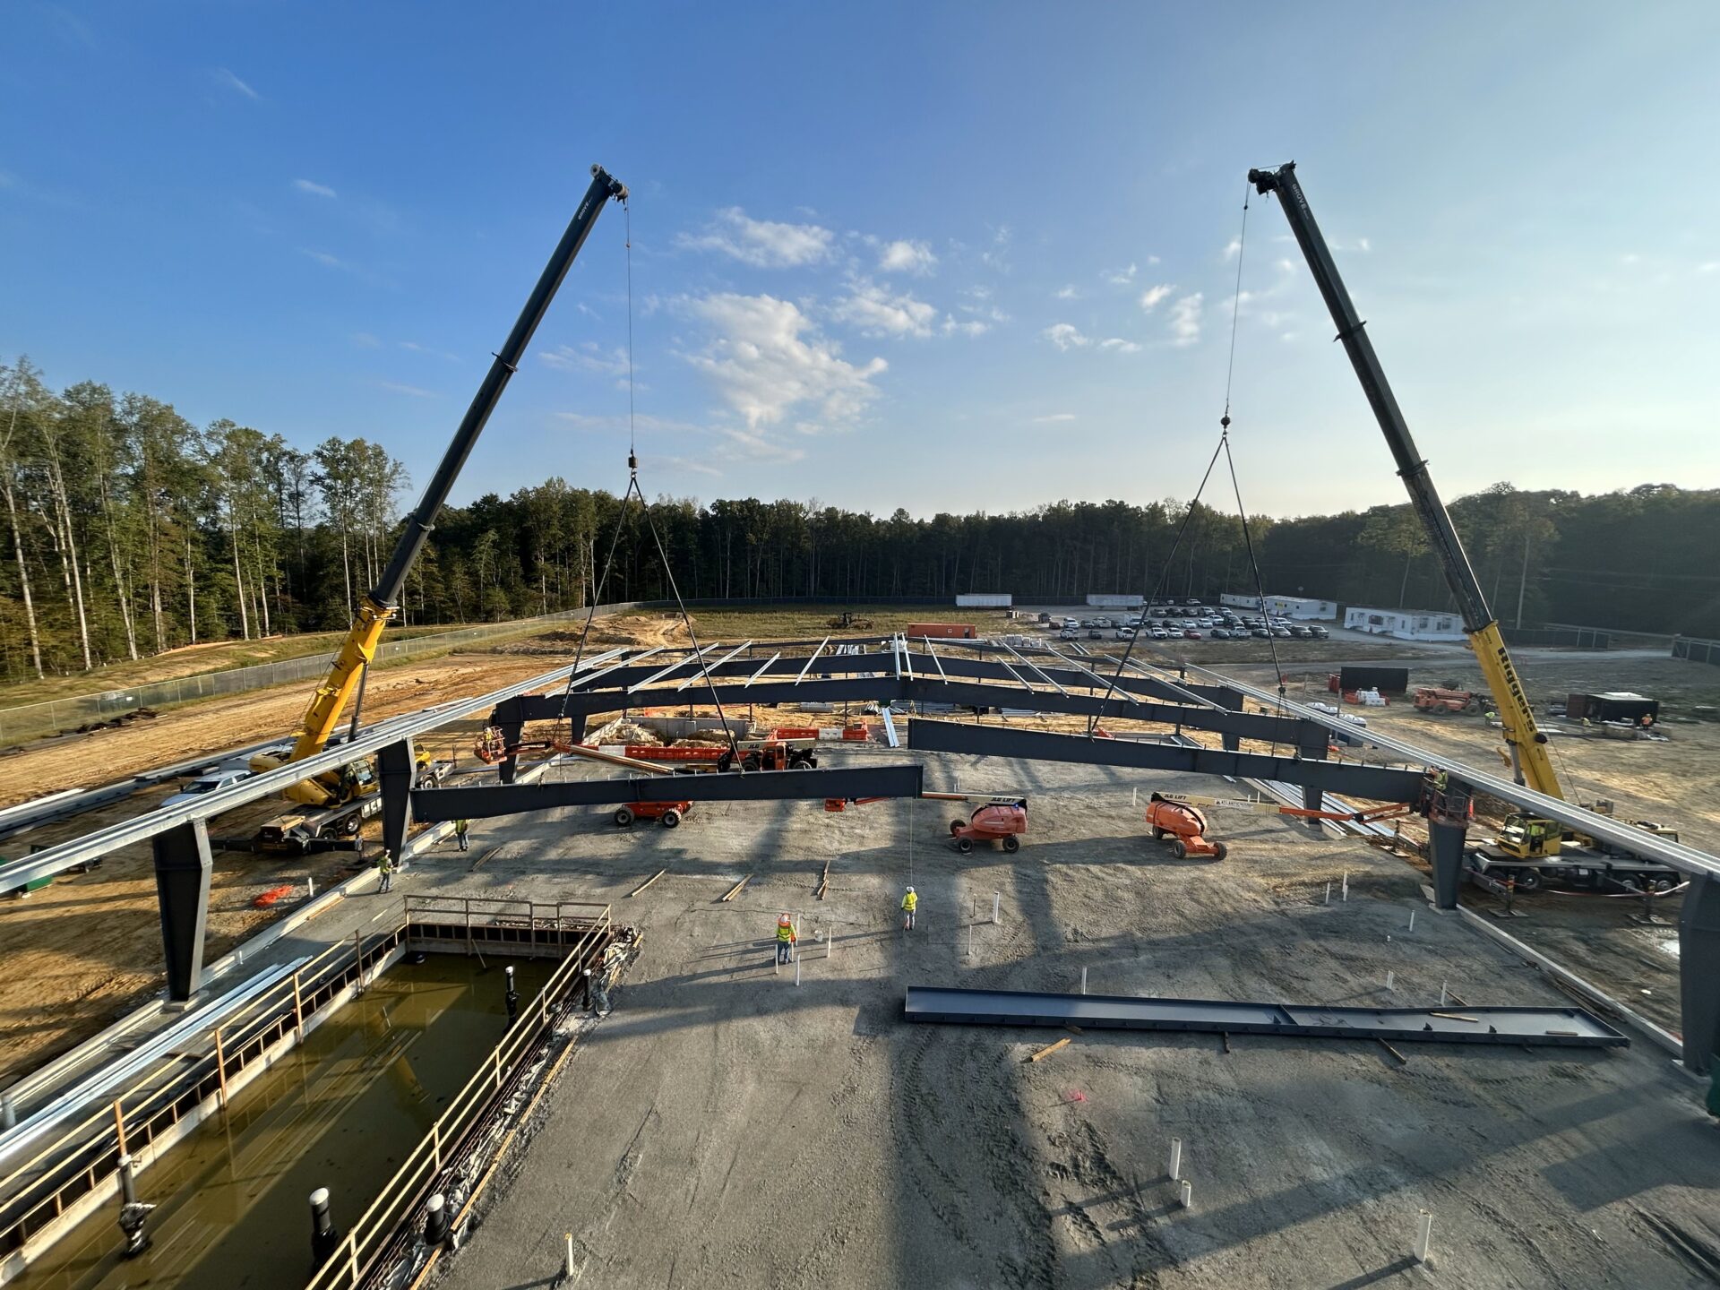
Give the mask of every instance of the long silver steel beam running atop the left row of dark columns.
<path id="1" fill-rule="evenodd" d="M 655 650 L 652 650 L 652 654 L 655 654 Z M 587 666 L 587 662 L 581 662 L 578 671 L 585 671 Z M 120 846 L 148 841 L 160 832 L 177 829 L 191 820 L 206 820 L 212 815 L 220 815 L 234 807 L 243 807 L 248 802 L 256 802 L 273 793 L 280 793 L 301 779 L 322 774 L 323 771 L 334 771 L 335 767 L 351 762 L 354 757 L 363 757 L 390 743 L 411 740 L 440 726 L 447 726 L 466 712 L 494 709 L 497 703 L 530 690 L 542 690 L 545 686 L 566 683 L 573 671 L 573 664 L 554 667 L 540 676 L 533 676 L 530 681 L 518 681 L 514 685 L 502 686 L 501 690 L 492 690 L 487 695 L 475 695 L 470 703 L 442 703 L 433 709 L 427 709 L 425 712 L 380 721 L 359 731 L 359 736 L 351 743 L 329 748 L 315 757 L 306 757 L 301 762 L 292 762 L 291 765 L 284 765 L 277 771 L 265 771 L 263 774 L 251 776 L 232 788 L 206 793 L 196 802 L 187 802 L 179 807 L 158 807 L 146 815 L 139 815 L 138 819 L 124 820 L 122 824 L 110 824 L 105 829 L 96 829 L 83 838 L 74 838 L 60 843 L 58 846 L 50 846 L 45 851 L 38 851 L 36 855 L 22 860 L 12 860 L 10 863 L 0 865 L 0 891 L 12 891 L 26 882 L 36 881 L 38 877 L 60 874 L 72 865 L 96 860 Z"/>

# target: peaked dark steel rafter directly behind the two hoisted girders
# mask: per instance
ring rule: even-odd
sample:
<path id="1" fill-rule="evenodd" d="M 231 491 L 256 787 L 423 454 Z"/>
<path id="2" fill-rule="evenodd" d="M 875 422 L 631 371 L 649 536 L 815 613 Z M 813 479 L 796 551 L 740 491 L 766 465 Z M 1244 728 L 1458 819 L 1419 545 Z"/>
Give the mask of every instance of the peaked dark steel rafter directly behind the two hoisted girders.
<path id="1" fill-rule="evenodd" d="M 1125 698 L 1056 690 L 1030 690 L 1022 685 L 980 685 L 977 681 L 939 681 L 936 676 L 845 676 L 829 681 L 760 681 L 757 685 L 719 685 L 716 697 L 724 705 L 740 703 L 839 703 L 908 700 L 915 703 L 960 703 L 963 707 L 1015 707 L 1032 712 L 1061 712 L 1080 717 L 1156 721 L 1166 726 L 1189 726 L 1235 734 L 1262 743 L 1287 743 L 1304 755 L 1324 755 L 1326 731 L 1307 721 L 1275 717 L 1252 712 L 1232 712 L 1214 707 L 1183 703 L 1158 703 L 1146 698 Z M 710 690 L 690 690 L 690 702 L 710 702 Z M 630 695 L 624 690 L 574 691 L 562 695 L 523 695 L 495 709 L 495 724 L 521 721 L 554 721 L 562 716 L 595 716 L 623 712 L 650 702 L 650 691 Z"/>

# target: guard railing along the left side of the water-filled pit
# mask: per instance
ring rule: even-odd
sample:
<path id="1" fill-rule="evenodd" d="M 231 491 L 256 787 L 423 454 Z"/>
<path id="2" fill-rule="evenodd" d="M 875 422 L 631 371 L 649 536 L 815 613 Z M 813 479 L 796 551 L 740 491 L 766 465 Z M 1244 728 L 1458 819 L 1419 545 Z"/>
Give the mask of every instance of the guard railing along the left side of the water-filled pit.
<path id="1" fill-rule="evenodd" d="M 227 1104 L 229 1085 L 291 1030 L 303 1039 L 315 1017 L 366 968 L 401 943 L 408 924 L 372 939 L 329 946 L 291 977 L 261 991 L 222 1018 L 203 1056 L 163 1058 L 98 1111 L 60 1133 L 0 1178 L 0 1256 L 22 1247 L 65 1211 L 103 1187 L 117 1185 L 119 1161 L 153 1149 L 208 1097 Z M 182 1047 L 179 1049 L 184 1051 Z M 165 1078 L 163 1078 L 165 1077 Z"/>

